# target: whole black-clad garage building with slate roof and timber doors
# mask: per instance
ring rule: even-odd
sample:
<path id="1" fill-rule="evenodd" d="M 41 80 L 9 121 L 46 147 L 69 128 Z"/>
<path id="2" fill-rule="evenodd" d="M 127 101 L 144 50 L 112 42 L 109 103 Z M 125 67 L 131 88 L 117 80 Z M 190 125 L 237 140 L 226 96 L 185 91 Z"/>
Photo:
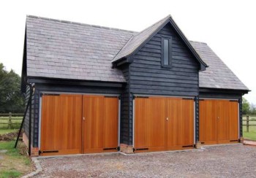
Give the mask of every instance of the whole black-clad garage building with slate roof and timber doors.
<path id="1" fill-rule="evenodd" d="M 170 15 L 140 32 L 27 16 L 21 90 L 31 155 L 237 143 L 249 92 Z"/>

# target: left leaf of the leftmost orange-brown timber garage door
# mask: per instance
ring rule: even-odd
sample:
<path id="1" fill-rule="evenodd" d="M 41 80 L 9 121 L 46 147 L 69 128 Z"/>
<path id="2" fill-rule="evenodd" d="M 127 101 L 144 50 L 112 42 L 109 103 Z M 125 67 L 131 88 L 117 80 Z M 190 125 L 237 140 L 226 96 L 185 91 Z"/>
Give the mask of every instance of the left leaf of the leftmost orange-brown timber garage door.
<path id="1" fill-rule="evenodd" d="M 82 96 L 42 96 L 41 151 L 63 155 L 81 152 Z"/>

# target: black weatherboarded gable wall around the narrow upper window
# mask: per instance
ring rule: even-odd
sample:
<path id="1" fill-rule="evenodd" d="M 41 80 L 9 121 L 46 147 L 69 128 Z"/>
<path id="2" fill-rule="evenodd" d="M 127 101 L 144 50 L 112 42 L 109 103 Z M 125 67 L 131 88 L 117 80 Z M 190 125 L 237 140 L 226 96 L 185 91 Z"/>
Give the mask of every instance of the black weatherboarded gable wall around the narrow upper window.
<path id="1" fill-rule="evenodd" d="M 172 38 L 172 66 L 161 65 L 162 37 Z M 169 24 L 133 56 L 130 92 L 162 96 L 197 96 L 199 63 Z"/>

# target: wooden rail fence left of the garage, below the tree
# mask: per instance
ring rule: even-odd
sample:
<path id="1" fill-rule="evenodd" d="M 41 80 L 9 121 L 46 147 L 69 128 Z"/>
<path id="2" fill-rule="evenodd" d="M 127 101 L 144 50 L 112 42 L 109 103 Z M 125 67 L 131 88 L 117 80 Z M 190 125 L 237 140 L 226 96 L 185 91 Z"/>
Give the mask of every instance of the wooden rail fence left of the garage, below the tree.
<path id="1" fill-rule="evenodd" d="M 20 114 L 20 113 L 14 114 L 12 112 L 9 112 L 8 114 L 0 114 L 0 125 L 7 125 L 7 128 L 11 129 L 11 128 L 13 128 L 14 124 L 17 124 L 17 122 L 14 123 L 12 121 L 20 120 L 20 123 L 21 123 L 21 121 L 23 119 L 23 115 L 24 114 Z M 18 123 L 18 124 L 20 124 L 20 123 Z"/>

